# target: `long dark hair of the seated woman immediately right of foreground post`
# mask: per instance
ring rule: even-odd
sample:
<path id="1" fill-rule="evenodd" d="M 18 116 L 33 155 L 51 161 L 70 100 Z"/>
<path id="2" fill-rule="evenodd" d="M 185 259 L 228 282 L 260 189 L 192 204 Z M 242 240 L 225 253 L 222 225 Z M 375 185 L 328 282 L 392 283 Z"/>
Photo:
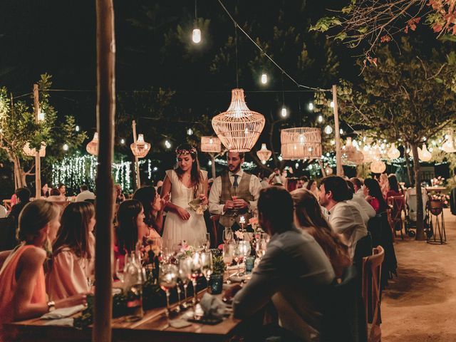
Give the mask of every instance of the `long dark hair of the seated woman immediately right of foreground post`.
<path id="1" fill-rule="evenodd" d="M 138 226 L 136 218 L 142 210 L 142 204 L 137 199 L 127 199 L 120 203 L 117 213 L 117 242 L 120 254 L 131 253 L 138 243 Z"/>

